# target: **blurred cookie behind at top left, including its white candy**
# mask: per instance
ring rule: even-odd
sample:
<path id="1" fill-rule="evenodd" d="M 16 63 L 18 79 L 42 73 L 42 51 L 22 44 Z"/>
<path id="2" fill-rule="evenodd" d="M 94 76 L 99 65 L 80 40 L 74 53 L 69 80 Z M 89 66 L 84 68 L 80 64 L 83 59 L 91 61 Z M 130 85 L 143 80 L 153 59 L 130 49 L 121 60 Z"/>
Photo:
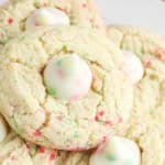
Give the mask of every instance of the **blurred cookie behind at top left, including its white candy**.
<path id="1" fill-rule="evenodd" d="M 0 4 L 0 43 L 44 24 L 82 25 L 106 33 L 94 0 L 10 0 Z"/>

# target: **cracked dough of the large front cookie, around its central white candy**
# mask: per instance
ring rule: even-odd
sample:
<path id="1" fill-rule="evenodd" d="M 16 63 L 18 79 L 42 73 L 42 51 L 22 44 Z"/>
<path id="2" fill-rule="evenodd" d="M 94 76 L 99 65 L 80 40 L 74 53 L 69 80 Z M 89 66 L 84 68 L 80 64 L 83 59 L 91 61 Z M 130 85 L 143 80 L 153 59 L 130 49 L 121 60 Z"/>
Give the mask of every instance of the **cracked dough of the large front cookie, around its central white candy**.
<path id="1" fill-rule="evenodd" d="M 58 98 L 44 81 L 50 62 L 73 53 L 92 76 L 89 91 L 77 101 Z M 58 150 L 89 150 L 130 116 L 133 86 L 118 67 L 123 54 L 92 30 L 37 28 L 10 40 L 0 54 L 0 111 L 28 141 Z"/>

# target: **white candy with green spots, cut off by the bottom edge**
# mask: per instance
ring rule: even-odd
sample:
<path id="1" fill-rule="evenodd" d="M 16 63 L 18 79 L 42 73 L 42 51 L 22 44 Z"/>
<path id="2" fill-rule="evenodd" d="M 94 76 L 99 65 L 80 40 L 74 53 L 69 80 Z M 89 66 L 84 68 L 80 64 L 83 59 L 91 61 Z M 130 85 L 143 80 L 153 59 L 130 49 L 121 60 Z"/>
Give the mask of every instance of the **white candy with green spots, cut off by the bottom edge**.
<path id="1" fill-rule="evenodd" d="M 128 139 L 110 138 L 96 151 L 89 165 L 140 165 L 141 155 L 138 145 Z"/>

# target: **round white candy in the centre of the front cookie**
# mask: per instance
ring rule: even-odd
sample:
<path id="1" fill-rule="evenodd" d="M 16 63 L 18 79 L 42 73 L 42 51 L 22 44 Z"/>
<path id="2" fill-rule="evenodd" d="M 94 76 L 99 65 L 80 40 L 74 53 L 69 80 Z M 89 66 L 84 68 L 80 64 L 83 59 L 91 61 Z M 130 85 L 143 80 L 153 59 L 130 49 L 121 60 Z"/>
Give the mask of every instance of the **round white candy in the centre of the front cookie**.
<path id="1" fill-rule="evenodd" d="M 77 54 L 54 56 L 44 70 L 46 88 L 54 98 L 77 101 L 91 86 L 91 70 Z"/>

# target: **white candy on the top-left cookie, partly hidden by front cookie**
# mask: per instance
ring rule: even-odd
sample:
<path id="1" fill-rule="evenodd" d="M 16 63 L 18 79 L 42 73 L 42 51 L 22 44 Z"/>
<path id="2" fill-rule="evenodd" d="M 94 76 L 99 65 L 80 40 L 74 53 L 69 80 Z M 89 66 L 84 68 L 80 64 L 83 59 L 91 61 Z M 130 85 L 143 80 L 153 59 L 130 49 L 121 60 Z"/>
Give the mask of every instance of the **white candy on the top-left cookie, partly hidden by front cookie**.
<path id="1" fill-rule="evenodd" d="M 68 15 L 54 8 L 45 7 L 34 11 L 31 16 L 26 20 L 26 29 L 38 25 L 69 25 Z"/>

